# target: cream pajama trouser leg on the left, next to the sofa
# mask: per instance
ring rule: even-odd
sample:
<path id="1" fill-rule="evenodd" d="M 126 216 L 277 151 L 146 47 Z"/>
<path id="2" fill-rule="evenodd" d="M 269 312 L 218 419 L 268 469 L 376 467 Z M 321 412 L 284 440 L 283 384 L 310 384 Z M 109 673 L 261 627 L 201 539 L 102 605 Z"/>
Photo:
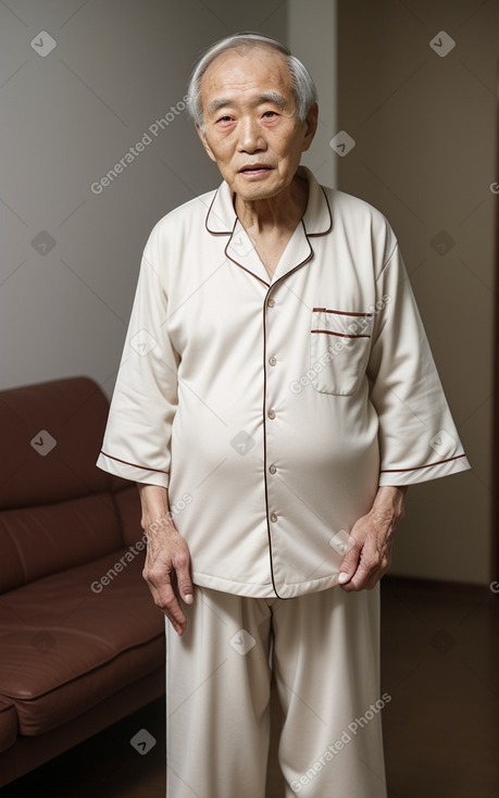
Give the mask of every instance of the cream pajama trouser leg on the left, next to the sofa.
<path id="1" fill-rule="evenodd" d="M 264 798 L 271 613 L 195 586 L 182 637 L 166 624 L 167 798 Z"/>

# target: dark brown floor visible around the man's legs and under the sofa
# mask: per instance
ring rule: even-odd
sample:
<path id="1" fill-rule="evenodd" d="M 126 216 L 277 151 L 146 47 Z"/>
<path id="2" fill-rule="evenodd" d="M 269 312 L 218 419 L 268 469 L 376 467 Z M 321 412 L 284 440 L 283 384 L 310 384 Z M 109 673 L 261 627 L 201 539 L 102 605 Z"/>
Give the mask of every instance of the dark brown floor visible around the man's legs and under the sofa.
<path id="1" fill-rule="evenodd" d="M 485 588 L 385 577 L 382 601 L 382 694 L 391 697 L 383 710 L 389 798 L 497 798 L 498 597 Z M 142 728 L 157 740 L 146 756 L 129 744 Z M 276 736 L 267 798 L 284 796 Z M 164 798 L 163 701 L 0 789 L 0 795 Z"/>

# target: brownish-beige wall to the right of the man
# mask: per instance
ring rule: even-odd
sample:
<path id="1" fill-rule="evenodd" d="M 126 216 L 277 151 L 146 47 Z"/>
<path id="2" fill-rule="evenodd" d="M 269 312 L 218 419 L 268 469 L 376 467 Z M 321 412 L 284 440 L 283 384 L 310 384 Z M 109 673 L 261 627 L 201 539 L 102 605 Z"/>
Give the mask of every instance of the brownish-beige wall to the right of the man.
<path id="1" fill-rule="evenodd" d="M 456 41 L 445 57 L 429 47 L 441 30 Z M 395 228 L 473 466 L 410 489 L 396 574 L 491 576 L 498 41 L 495 2 L 338 2 L 338 129 L 355 140 L 337 157 L 338 187 L 376 205 Z M 453 240 L 446 253 L 432 244 L 440 230 Z"/>

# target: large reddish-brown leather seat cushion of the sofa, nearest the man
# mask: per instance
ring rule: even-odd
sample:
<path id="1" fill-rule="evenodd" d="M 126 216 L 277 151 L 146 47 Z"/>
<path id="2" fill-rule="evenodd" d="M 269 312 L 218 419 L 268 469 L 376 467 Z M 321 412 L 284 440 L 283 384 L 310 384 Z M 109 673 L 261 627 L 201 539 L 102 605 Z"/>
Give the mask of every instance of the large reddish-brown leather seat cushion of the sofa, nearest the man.
<path id="1" fill-rule="evenodd" d="M 164 615 L 128 547 L 0 597 L 0 698 L 39 735 L 164 662 Z"/>

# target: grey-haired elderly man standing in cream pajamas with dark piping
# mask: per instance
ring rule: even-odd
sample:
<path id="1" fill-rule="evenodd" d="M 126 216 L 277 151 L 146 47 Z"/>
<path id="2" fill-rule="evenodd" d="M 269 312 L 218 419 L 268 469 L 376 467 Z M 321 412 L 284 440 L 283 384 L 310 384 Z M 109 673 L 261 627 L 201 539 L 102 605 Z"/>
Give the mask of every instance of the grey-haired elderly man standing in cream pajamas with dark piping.
<path id="1" fill-rule="evenodd" d="M 98 460 L 139 487 L 167 795 L 264 797 L 273 672 L 286 796 L 384 798 L 379 578 L 407 486 L 469 464 L 386 219 L 300 166 L 304 66 L 239 34 L 188 93 L 223 183 L 150 235 Z"/>

